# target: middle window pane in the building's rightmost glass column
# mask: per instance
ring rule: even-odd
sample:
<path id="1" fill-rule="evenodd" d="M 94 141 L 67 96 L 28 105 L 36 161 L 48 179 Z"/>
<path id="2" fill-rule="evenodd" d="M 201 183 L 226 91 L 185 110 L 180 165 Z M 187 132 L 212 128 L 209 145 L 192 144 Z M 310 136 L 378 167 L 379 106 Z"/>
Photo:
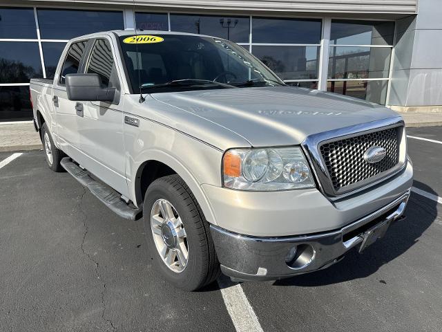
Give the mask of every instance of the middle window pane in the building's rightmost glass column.
<path id="1" fill-rule="evenodd" d="M 390 48 L 330 47 L 329 78 L 387 78 Z"/>

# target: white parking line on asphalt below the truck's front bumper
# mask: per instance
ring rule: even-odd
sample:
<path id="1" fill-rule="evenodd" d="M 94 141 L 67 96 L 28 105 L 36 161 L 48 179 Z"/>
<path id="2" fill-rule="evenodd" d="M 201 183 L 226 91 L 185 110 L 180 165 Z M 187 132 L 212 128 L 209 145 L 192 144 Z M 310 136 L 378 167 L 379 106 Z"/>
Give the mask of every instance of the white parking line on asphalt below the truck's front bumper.
<path id="1" fill-rule="evenodd" d="M 222 298 L 237 332 L 263 332 L 258 317 L 240 284 L 218 279 Z"/>

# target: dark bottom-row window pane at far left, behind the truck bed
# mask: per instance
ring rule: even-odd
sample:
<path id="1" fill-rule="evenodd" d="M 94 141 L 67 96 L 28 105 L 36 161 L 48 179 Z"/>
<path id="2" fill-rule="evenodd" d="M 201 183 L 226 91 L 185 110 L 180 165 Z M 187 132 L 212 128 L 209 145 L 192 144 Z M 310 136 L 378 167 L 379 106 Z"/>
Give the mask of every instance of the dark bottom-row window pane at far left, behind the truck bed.
<path id="1" fill-rule="evenodd" d="M 29 86 L 0 86 L 0 122 L 30 119 Z"/>

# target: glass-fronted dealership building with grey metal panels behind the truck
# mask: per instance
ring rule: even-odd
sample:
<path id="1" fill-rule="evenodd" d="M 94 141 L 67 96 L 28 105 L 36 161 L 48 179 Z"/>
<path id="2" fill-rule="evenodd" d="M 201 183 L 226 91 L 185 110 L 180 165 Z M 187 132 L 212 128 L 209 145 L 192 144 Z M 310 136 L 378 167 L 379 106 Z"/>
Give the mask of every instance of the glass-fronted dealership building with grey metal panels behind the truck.
<path id="1" fill-rule="evenodd" d="M 29 120 L 29 80 L 69 39 L 171 30 L 240 44 L 293 86 L 407 111 L 442 109 L 441 0 L 1 1 L 0 122 Z"/>

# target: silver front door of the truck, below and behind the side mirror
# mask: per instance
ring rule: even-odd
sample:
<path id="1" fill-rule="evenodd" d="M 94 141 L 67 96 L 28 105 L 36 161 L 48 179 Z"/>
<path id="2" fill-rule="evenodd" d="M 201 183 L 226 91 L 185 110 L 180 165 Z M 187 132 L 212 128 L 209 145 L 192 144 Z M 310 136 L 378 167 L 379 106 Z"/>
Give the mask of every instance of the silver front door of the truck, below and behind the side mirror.
<path id="1" fill-rule="evenodd" d="M 110 37 L 91 41 L 85 73 L 98 74 L 102 86 L 116 88 L 113 102 L 81 102 L 83 117 L 79 118 L 81 164 L 119 193 L 128 195 L 123 140 L 123 102 L 115 52 Z"/>

